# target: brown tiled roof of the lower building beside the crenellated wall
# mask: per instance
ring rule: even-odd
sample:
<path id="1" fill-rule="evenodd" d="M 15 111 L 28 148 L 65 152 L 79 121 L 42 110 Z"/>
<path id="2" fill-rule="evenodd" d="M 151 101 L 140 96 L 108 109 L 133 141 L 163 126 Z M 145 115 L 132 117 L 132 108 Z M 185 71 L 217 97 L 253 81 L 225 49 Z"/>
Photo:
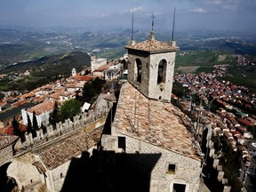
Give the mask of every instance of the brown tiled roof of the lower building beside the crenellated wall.
<path id="1" fill-rule="evenodd" d="M 48 170 L 53 170 L 61 164 L 70 161 L 72 157 L 80 156 L 82 152 L 95 146 L 101 137 L 103 128 L 93 132 L 78 132 L 64 140 L 35 151 Z"/>

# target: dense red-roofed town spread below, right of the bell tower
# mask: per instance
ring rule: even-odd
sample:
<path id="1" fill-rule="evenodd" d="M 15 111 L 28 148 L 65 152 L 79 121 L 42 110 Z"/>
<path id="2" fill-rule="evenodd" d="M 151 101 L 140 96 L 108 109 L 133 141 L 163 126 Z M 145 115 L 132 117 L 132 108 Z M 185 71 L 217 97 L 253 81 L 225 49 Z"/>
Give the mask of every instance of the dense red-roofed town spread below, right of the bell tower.
<path id="1" fill-rule="evenodd" d="M 243 60 L 243 56 L 238 55 L 237 65 L 244 65 L 241 63 L 244 63 Z M 250 61 L 247 60 L 246 63 Z M 228 75 L 228 64 L 215 65 L 213 68 L 212 73 L 176 74 L 174 81 L 188 89 L 188 94 L 183 98 L 172 94 L 172 98 L 179 100 L 184 111 L 196 116 L 195 118 L 198 117 L 198 122 L 211 124 L 214 135 L 225 136 L 233 151 L 242 151 L 244 165 L 238 176 L 241 182 L 246 183 L 250 180 L 248 177 L 255 178 L 256 172 L 256 94 L 245 86 L 218 80 Z M 200 97 L 197 106 L 196 101 L 192 99 L 193 94 Z"/>

